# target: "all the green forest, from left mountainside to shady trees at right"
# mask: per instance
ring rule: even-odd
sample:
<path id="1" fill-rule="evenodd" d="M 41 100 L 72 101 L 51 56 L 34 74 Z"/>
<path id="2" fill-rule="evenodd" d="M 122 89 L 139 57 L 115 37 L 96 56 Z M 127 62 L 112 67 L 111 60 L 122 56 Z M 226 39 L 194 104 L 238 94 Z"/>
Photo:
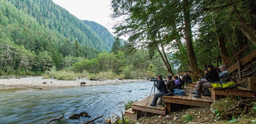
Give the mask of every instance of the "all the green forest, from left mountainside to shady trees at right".
<path id="1" fill-rule="evenodd" d="M 112 18 L 124 19 L 113 27 L 117 37 L 51 0 L 0 0 L 0 74 L 200 74 L 207 64 L 231 59 L 225 63 L 231 66 L 255 50 L 255 0 L 112 0 L 111 6 Z"/>

